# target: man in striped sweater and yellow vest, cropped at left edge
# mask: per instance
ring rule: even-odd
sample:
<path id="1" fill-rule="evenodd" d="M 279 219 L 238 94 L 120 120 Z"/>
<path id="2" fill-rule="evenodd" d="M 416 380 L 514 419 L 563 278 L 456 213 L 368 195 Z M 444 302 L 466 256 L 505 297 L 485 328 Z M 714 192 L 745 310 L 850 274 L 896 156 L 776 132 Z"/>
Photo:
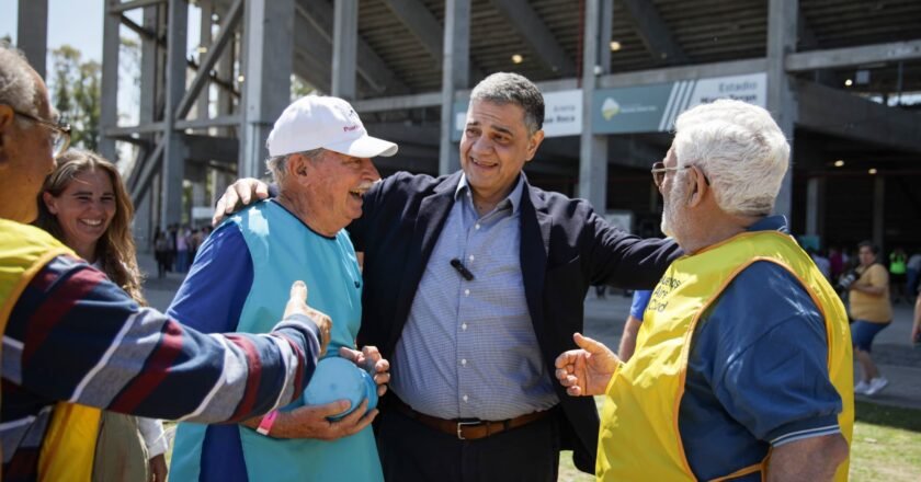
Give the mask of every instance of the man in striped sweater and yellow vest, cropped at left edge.
<path id="1" fill-rule="evenodd" d="M 139 308 L 29 226 L 68 142 L 45 83 L 0 43 L 0 479 L 8 482 L 91 480 L 99 411 L 58 402 L 200 423 L 247 420 L 298 399 L 329 342 L 330 320 L 305 303 L 300 282 L 270 335 L 206 335 Z"/>

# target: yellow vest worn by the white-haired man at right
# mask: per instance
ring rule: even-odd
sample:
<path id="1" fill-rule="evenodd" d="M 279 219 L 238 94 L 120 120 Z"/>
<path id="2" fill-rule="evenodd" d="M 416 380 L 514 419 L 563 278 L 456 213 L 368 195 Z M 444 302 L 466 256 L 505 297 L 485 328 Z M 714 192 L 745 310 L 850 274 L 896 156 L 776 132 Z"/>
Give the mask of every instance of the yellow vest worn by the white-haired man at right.
<path id="1" fill-rule="evenodd" d="M 843 404 L 838 423 L 850 446 L 854 391 L 844 307 L 793 238 L 777 231 L 752 231 L 675 260 L 659 282 L 637 336 L 636 353 L 617 368 L 605 392 L 595 467 L 599 480 L 696 480 L 684 455 L 678 421 L 694 326 L 726 286 L 757 261 L 775 263 L 794 275 L 821 312 L 829 377 Z M 716 480 L 758 471 L 763 479 L 766 461 L 738 467 Z M 845 460 L 834 480 L 846 480 L 848 467 Z"/>

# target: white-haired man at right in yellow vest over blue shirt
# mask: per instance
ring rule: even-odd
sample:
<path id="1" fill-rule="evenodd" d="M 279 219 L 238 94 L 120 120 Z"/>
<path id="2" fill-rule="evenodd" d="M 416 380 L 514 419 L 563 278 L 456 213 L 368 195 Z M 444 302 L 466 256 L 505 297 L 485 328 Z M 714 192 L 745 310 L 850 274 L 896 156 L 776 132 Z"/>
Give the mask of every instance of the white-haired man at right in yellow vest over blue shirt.
<path id="1" fill-rule="evenodd" d="M 675 123 L 652 175 L 662 231 L 684 250 L 622 363 L 575 335 L 556 360 L 570 395 L 604 394 L 605 481 L 846 480 L 854 421 L 848 317 L 769 216 L 789 146 L 761 107 L 717 101 Z"/>

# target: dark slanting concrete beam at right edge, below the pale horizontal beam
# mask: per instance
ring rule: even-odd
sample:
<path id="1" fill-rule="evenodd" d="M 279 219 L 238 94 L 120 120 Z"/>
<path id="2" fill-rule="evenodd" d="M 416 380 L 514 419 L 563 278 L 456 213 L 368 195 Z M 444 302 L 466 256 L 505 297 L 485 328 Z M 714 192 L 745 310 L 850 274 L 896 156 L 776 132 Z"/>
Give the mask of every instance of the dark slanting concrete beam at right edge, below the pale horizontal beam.
<path id="1" fill-rule="evenodd" d="M 800 80 L 797 124 L 809 130 L 921 153 L 921 113 Z"/>

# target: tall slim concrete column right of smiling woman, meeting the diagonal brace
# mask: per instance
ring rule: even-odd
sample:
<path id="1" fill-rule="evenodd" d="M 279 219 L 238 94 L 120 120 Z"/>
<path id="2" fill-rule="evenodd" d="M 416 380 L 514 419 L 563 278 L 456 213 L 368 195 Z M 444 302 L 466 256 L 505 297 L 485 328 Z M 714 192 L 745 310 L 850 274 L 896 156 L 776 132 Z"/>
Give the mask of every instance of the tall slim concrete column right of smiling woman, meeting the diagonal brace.
<path id="1" fill-rule="evenodd" d="M 185 45 L 189 33 L 189 3 L 186 0 L 170 0 L 167 15 L 167 102 L 163 118 L 162 204 L 160 227 L 182 221 L 182 181 L 185 179 L 185 142 L 182 133 L 175 130 L 175 111 L 185 92 Z"/>

